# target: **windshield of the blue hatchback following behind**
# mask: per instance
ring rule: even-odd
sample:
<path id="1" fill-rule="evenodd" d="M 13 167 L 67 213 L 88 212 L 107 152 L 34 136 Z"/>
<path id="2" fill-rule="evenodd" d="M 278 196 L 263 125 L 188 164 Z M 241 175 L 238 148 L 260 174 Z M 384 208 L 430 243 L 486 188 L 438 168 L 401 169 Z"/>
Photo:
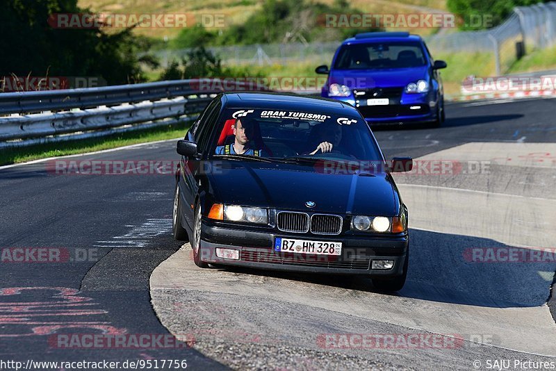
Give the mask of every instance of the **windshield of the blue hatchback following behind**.
<path id="1" fill-rule="evenodd" d="M 392 69 L 425 65 L 418 42 L 370 42 L 341 47 L 334 69 Z"/>

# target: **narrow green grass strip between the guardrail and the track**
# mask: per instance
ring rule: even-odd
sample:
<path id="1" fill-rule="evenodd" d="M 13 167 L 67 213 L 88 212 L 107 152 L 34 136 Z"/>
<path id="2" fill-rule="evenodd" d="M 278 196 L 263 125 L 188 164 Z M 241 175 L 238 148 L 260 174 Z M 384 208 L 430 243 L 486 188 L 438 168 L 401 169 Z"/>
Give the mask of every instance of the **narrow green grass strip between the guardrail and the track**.
<path id="1" fill-rule="evenodd" d="M 43 145 L 33 145 L 22 148 L 1 149 L 0 165 L 24 163 L 26 161 L 55 156 L 85 154 L 87 152 L 124 147 L 126 145 L 155 142 L 156 140 L 183 138 L 188 128 L 189 124 L 180 124 L 106 135 L 106 137 L 102 138 L 70 140 L 67 142 L 45 143 Z"/>

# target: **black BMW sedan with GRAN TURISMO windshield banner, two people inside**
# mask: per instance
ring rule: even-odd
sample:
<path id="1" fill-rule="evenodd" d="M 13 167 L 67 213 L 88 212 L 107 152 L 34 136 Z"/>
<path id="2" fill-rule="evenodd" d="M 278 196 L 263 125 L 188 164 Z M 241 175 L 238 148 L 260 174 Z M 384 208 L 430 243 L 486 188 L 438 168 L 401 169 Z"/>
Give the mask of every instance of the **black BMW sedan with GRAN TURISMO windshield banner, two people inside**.
<path id="1" fill-rule="evenodd" d="M 236 265 L 404 285 L 407 208 L 352 106 L 293 94 L 225 93 L 177 143 L 173 233 L 199 267 Z"/>

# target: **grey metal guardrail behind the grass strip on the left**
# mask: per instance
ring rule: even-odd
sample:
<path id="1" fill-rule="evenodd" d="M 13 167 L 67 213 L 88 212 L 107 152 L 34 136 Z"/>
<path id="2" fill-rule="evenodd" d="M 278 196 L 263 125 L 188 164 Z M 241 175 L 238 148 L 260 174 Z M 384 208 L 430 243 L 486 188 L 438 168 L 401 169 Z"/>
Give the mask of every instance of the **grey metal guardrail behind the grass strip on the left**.
<path id="1" fill-rule="evenodd" d="M 222 91 L 199 90 L 218 86 L 204 81 L 0 93 L 0 149 L 188 122 Z M 235 86 L 247 90 L 241 83 Z"/>

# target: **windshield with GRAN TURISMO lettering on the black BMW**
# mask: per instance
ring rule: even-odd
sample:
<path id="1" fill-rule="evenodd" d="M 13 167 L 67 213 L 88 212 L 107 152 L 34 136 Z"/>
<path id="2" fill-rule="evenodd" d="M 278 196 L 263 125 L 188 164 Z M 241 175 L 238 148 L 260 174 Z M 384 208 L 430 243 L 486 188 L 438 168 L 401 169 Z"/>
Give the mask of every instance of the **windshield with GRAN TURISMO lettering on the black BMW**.
<path id="1" fill-rule="evenodd" d="M 296 110 L 224 110 L 213 156 L 259 156 L 283 160 L 326 158 L 381 161 L 366 122 L 358 116 Z"/>

